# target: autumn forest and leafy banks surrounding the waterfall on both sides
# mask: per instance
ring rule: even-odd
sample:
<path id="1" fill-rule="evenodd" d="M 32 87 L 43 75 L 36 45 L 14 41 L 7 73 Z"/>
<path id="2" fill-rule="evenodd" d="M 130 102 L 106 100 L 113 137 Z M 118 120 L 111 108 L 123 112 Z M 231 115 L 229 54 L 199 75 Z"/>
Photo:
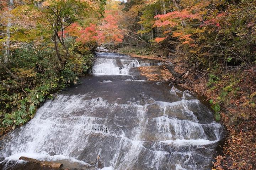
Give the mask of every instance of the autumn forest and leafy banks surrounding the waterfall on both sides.
<path id="1" fill-rule="evenodd" d="M 255 0 L 4 0 L 0 2 L 2 133 L 79 83 L 97 46 L 161 58 L 206 95 L 229 135 L 215 169 L 256 168 Z M 176 77 L 170 77 L 170 82 Z M 173 82 L 174 83 L 174 82 Z"/>

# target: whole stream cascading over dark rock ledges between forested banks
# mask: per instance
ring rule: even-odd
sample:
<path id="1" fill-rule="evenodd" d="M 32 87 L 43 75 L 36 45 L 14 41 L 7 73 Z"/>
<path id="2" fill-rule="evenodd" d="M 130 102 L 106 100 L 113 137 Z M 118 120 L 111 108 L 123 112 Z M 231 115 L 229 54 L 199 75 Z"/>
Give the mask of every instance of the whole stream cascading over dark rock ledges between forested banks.
<path id="1" fill-rule="evenodd" d="M 97 53 L 80 85 L 0 141 L 0 167 L 19 169 L 26 156 L 77 169 L 209 169 L 223 127 L 191 92 L 147 81 L 138 69 L 160 65 Z"/>

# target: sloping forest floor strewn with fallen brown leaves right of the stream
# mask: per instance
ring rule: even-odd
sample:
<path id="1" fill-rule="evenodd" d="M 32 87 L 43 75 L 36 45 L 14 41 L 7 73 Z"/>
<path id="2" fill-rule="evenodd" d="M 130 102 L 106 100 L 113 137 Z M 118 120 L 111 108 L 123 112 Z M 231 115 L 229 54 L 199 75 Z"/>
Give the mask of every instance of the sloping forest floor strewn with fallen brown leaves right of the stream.
<path id="1" fill-rule="evenodd" d="M 190 66 L 183 57 L 162 59 L 155 55 L 137 55 L 171 62 L 175 73 L 184 73 Z M 150 72 L 149 72 L 150 74 Z M 166 77 L 172 74 L 165 73 Z M 173 77 L 172 79 L 175 79 Z M 228 135 L 222 153 L 215 157 L 213 170 L 255 170 L 256 169 L 256 72 L 251 69 L 196 70 L 178 84 L 184 89 L 206 96 L 207 100 L 219 103 L 220 122 L 226 126 Z"/>

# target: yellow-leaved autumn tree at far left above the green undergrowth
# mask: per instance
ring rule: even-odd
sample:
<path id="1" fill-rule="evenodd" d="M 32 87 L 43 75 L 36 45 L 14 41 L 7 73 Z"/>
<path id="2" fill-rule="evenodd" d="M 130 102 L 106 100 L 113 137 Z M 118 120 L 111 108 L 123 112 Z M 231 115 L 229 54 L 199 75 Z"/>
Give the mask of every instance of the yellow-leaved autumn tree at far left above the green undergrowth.
<path id="1" fill-rule="evenodd" d="M 11 61 L 9 58 L 12 55 L 11 51 L 15 49 L 31 49 L 39 43 L 41 36 L 39 36 L 39 27 L 37 23 L 43 25 L 42 13 L 35 6 L 30 4 L 23 4 L 14 1 L 2 2 L 4 7 L 1 8 L 0 23 L 0 43 L 3 58 L 0 60 L 0 67 L 3 68 L 12 78 L 20 80 L 10 70 Z M 43 26 L 44 27 L 44 26 Z M 33 32 L 28 34 L 28 32 Z"/>

